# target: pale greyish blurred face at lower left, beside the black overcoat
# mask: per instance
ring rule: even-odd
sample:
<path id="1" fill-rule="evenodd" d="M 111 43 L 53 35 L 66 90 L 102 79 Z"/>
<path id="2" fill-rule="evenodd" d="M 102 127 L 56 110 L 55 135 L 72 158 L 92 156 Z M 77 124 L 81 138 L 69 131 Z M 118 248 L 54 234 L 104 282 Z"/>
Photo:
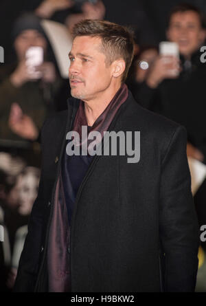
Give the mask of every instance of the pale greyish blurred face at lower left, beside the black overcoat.
<path id="1" fill-rule="evenodd" d="M 30 215 L 38 193 L 38 178 L 33 173 L 19 177 L 19 213 Z"/>

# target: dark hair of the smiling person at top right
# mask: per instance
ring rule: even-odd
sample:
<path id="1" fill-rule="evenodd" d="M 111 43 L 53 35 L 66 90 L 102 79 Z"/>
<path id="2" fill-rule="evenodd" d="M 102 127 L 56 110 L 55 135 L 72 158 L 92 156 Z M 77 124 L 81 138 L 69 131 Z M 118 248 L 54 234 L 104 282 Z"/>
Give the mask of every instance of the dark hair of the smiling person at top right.
<path id="1" fill-rule="evenodd" d="M 170 11 L 169 17 L 168 17 L 168 27 L 170 26 L 170 21 L 174 14 L 179 13 L 179 12 L 184 13 L 188 11 L 192 11 L 198 14 L 198 17 L 201 23 L 201 27 L 206 28 L 205 14 L 203 14 L 201 10 L 199 10 L 196 6 L 192 6 L 192 4 L 189 4 L 189 3 L 181 3 L 178 6 L 174 6 L 174 8 L 172 8 L 172 10 Z"/>

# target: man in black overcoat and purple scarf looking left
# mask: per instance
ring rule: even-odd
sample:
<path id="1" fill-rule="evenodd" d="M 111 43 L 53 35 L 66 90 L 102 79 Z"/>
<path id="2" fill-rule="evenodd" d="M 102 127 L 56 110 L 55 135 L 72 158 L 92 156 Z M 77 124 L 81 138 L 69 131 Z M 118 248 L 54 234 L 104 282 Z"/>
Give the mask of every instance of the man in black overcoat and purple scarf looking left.
<path id="1" fill-rule="evenodd" d="M 86 20 L 73 30 L 73 98 L 41 132 L 41 182 L 16 292 L 194 291 L 186 132 L 128 91 L 133 50 L 133 36 L 115 23 Z"/>

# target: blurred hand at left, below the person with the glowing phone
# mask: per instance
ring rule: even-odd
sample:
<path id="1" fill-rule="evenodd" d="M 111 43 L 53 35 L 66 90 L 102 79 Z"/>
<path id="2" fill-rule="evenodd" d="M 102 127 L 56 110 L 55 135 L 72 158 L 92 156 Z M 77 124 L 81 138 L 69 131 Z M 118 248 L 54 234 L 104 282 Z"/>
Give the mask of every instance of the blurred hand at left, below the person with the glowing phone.
<path id="1" fill-rule="evenodd" d="M 23 113 L 17 103 L 13 103 L 8 120 L 10 129 L 17 135 L 27 140 L 38 138 L 38 129 L 30 116 Z"/>

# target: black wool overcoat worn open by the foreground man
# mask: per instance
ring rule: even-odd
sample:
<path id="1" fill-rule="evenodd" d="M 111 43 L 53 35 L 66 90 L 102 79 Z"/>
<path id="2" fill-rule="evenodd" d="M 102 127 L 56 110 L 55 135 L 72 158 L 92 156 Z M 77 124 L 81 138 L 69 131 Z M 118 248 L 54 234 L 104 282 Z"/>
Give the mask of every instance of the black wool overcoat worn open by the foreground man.
<path id="1" fill-rule="evenodd" d="M 65 135 L 79 100 L 42 129 L 42 171 L 15 291 L 47 291 L 47 238 Z M 110 131 L 140 131 L 140 160 L 95 156 L 71 220 L 72 292 L 192 292 L 198 223 L 190 187 L 186 132 L 140 107 L 132 94 Z M 68 255 L 69 256 L 69 255 Z M 37 283 L 37 284 L 36 284 Z"/>

